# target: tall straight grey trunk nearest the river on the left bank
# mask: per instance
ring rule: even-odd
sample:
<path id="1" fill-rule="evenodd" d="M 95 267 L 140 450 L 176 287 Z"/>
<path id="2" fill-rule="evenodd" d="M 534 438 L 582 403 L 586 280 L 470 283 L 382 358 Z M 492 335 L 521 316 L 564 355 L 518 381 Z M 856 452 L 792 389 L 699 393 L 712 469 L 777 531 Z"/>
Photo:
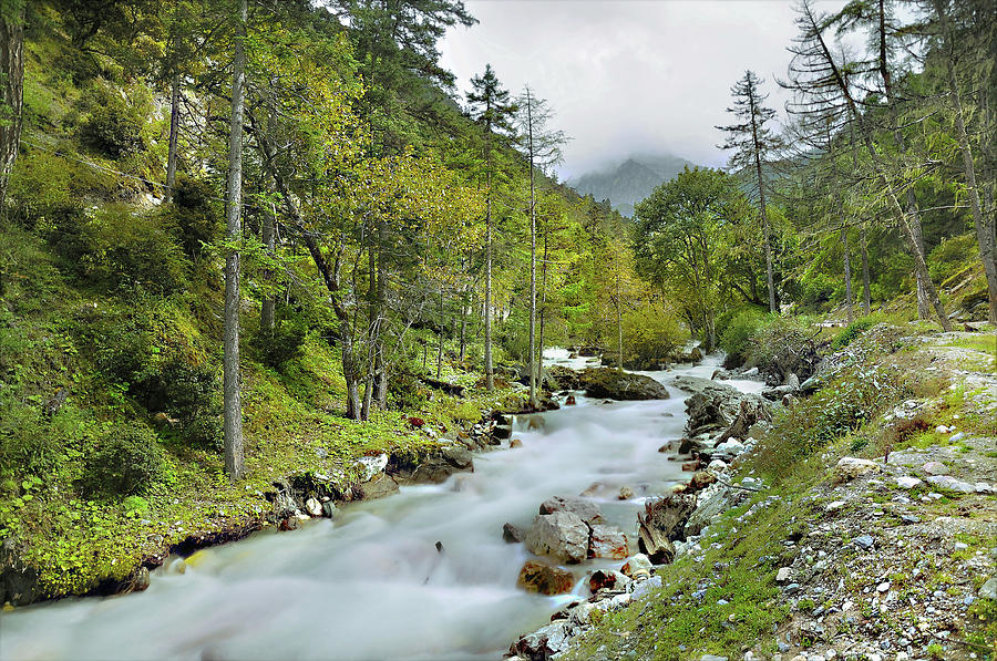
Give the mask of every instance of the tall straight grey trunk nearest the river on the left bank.
<path id="1" fill-rule="evenodd" d="M 243 104 L 246 84 L 247 0 L 239 2 L 238 29 L 232 76 L 232 121 L 228 143 L 228 208 L 226 235 L 237 241 L 241 236 L 243 204 Z M 243 457 L 243 404 L 239 396 L 239 252 L 225 259 L 224 331 L 224 433 L 225 472 L 238 479 L 245 472 Z"/>

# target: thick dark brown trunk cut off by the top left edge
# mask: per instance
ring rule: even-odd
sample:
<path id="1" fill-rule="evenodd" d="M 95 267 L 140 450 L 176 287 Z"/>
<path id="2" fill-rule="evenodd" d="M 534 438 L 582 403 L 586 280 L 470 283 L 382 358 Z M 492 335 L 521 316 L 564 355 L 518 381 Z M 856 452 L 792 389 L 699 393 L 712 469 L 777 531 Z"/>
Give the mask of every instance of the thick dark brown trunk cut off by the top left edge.
<path id="1" fill-rule="evenodd" d="M 0 11 L 0 215 L 21 144 L 24 109 L 24 2 L 6 4 L 11 7 Z"/>

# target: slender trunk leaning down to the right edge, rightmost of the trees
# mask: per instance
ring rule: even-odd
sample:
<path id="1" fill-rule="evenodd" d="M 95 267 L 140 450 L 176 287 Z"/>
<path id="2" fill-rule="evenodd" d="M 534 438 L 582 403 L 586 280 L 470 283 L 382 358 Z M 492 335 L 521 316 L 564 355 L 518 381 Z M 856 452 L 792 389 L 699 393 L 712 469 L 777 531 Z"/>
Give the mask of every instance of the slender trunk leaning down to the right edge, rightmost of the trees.
<path id="1" fill-rule="evenodd" d="M 973 209 L 973 225 L 976 228 L 976 241 L 979 245 L 979 258 L 984 265 L 984 273 L 987 277 L 987 293 L 989 298 L 989 320 L 997 323 L 997 256 L 995 256 L 994 216 L 985 216 L 979 204 L 979 188 L 976 185 L 976 166 L 973 163 L 973 148 L 969 146 L 969 137 L 966 135 L 966 124 L 963 118 L 963 100 L 959 96 L 959 85 L 956 80 L 955 65 L 950 51 L 955 48 L 952 33 L 952 24 L 948 21 L 948 12 L 942 0 L 933 0 L 935 13 L 942 22 L 943 37 L 949 48 L 945 58 L 945 68 L 948 73 L 948 92 L 955 110 L 956 137 L 959 141 L 959 152 L 963 156 L 963 171 L 966 174 L 966 189 L 969 194 L 969 207 Z"/>

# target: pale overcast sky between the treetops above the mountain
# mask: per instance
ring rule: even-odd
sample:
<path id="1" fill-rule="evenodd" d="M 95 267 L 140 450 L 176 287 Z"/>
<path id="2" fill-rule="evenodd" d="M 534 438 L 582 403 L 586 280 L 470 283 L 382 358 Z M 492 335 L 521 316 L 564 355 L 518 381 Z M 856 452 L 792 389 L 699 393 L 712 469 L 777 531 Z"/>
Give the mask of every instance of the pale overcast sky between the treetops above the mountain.
<path id="1" fill-rule="evenodd" d="M 636 152 L 726 165 L 716 125 L 730 86 L 751 69 L 782 113 L 785 48 L 796 30 L 781 0 L 465 0 L 481 23 L 452 29 L 442 64 L 464 93 L 491 63 L 506 89 L 547 99 L 572 136 L 563 178 Z M 841 6 L 822 2 L 825 11 Z"/>

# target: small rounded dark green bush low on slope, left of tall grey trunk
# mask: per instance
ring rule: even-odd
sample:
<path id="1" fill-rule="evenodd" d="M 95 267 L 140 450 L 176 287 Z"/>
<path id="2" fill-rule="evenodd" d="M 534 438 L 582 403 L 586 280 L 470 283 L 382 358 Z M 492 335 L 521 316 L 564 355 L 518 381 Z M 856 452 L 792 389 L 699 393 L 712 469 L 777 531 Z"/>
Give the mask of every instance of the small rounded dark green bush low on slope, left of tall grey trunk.
<path id="1" fill-rule="evenodd" d="M 84 483 L 91 493 L 144 494 L 163 474 L 156 435 L 145 426 L 121 426 L 90 454 Z"/>

